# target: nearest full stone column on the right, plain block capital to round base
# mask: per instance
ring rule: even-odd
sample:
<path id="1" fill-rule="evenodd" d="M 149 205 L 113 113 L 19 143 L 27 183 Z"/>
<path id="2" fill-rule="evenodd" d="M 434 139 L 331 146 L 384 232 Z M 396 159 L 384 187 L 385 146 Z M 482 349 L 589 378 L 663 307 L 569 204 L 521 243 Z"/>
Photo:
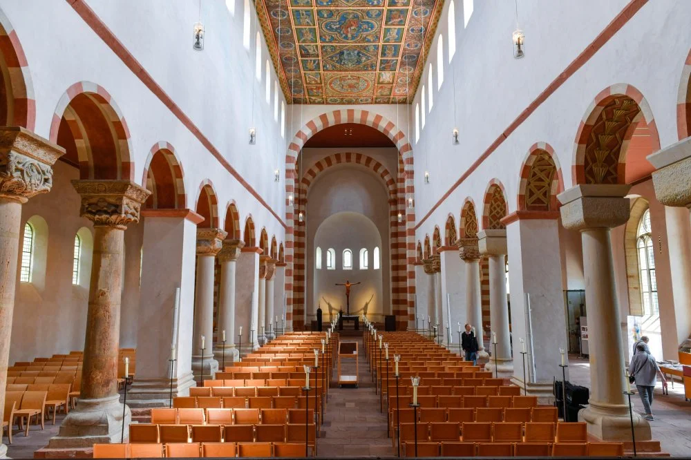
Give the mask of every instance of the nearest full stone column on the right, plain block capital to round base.
<path id="1" fill-rule="evenodd" d="M 624 350 L 614 285 L 610 229 L 625 224 L 629 185 L 581 184 L 558 195 L 562 224 L 580 231 L 590 354 L 589 407 L 578 413 L 588 432 L 607 441 L 631 438 L 626 403 Z M 563 327 L 560 325 L 560 327 Z M 650 439 L 650 425 L 634 412 L 636 441 Z"/>

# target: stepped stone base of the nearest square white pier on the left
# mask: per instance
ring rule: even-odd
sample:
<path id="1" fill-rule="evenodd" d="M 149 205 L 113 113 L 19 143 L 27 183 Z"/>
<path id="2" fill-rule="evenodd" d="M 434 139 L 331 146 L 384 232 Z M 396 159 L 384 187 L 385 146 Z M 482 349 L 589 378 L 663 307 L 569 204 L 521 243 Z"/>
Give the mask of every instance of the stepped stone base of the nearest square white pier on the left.
<path id="1" fill-rule="evenodd" d="M 194 386 L 196 382 L 191 372 L 173 378 L 173 398 L 189 396 L 189 388 Z M 131 408 L 167 408 L 170 398 L 170 378 L 135 378 L 127 390 L 127 405 Z"/>

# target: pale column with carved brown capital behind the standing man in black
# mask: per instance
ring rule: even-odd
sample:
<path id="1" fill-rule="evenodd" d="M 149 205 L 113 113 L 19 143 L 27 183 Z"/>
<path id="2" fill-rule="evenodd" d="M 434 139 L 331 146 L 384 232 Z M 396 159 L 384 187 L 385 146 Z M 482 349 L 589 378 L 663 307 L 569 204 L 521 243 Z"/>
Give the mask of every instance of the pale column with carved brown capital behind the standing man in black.
<path id="1" fill-rule="evenodd" d="M 484 339 L 482 331 L 482 299 L 480 292 L 480 249 L 477 247 L 477 237 L 459 238 L 458 256 L 466 262 L 466 318 L 471 326 L 475 327 L 477 337 L 477 362 L 486 363 L 489 354 L 484 351 Z"/>

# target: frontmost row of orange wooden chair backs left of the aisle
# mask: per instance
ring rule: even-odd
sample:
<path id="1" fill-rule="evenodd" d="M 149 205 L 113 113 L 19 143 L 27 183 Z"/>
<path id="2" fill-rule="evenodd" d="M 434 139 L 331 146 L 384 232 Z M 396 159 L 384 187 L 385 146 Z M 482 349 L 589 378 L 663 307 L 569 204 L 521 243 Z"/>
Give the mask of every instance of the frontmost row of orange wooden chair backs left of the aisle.
<path id="1" fill-rule="evenodd" d="M 95 459 L 303 457 L 304 443 L 94 444 Z"/>

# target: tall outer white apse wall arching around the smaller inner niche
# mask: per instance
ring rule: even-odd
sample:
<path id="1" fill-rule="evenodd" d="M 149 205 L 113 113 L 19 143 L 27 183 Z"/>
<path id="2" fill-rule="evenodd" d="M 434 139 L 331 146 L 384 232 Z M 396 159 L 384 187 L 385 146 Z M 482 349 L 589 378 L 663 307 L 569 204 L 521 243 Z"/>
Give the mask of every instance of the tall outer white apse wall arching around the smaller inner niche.
<path id="1" fill-rule="evenodd" d="M 366 216 L 374 222 L 381 238 L 381 276 L 383 294 L 379 300 L 383 309 L 379 312 L 390 314 L 390 250 L 389 250 L 389 205 L 388 193 L 381 182 L 381 178 L 371 171 L 354 166 L 334 166 L 321 173 L 310 187 L 307 195 L 307 211 L 305 213 L 305 274 L 307 274 L 305 289 L 307 290 L 307 321 L 316 312 L 317 299 L 310 283 L 310 274 L 314 273 L 314 251 L 317 229 L 330 216 L 350 211 Z M 373 248 L 372 248 L 373 249 Z M 341 248 L 341 251 L 343 247 Z M 322 247 L 322 251 L 325 248 Z M 326 255 L 323 252 L 323 266 Z M 341 260 L 337 253 L 337 260 Z M 358 281 L 352 279 L 351 281 Z M 338 309 L 338 305 L 334 304 Z M 369 311 L 369 310 L 368 310 Z M 373 319 L 372 319 L 373 320 Z"/>

